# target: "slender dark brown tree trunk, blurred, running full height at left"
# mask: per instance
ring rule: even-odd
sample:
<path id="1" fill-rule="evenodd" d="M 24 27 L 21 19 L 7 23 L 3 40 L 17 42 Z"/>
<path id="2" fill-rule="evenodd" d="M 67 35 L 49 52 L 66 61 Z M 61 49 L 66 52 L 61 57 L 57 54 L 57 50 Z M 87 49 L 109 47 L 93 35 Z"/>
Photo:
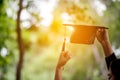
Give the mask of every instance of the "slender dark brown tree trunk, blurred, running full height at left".
<path id="1" fill-rule="evenodd" d="M 17 64 L 17 70 L 16 70 L 16 80 L 21 80 L 21 70 L 23 65 L 23 57 L 24 57 L 24 48 L 23 48 L 23 42 L 21 37 L 21 28 L 20 28 L 20 14 L 22 10 L 22 2 L 23 0 L 19 0 L 19 10 L 17 13 L 17 40 L 18 40 L 18 48 L 19 48 L 19 61 Z"/>

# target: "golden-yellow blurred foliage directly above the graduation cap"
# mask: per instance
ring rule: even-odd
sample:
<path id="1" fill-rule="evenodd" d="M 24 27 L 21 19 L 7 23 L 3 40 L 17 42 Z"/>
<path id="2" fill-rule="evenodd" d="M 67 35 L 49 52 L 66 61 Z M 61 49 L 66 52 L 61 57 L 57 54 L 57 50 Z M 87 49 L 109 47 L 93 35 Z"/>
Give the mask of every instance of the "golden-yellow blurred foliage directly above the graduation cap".
<path id="1" fill-rule="evenodd" d="M 91 0 L 92 1 L 92 0 Z M 59 12 L 58 12 L 59 11 Z M 55 13 L 67 12 L 76 24 L 96 24 L 98 23 L 97 13 L 91 8 L 86 0 L 60 0 L 55 9 Z M 94 15 L 94 16 L 93 16 Z"/>

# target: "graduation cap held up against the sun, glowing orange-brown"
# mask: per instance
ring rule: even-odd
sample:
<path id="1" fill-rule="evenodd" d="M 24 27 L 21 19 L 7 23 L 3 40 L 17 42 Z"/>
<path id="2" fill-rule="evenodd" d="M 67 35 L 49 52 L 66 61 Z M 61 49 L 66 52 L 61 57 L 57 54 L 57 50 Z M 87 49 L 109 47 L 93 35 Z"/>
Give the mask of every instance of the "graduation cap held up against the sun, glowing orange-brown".
<path id="1" fill-rule="evenodd" d="M 73 24 L 63 24 L 63 25 L 73 26 L 74 32 L 70 37 L 70 42 L 77 44 L 93 44 L 97 30 L 99 28 L 108 29 L 106 27 L 90 26 L 90 25 L 73 25 Z"/>

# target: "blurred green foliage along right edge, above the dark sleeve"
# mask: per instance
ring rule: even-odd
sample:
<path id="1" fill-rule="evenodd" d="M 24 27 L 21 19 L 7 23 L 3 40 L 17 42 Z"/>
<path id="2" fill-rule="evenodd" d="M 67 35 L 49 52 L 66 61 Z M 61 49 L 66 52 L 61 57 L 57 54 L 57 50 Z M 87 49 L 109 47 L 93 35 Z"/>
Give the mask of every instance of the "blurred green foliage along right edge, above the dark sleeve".
<path id="1" fill-rule="evenodd" d="M 109 2 L 109 0 L 107 0 Z M 103 2 L 106 4 L 106 2 Z M 104 14 L 104 23 L 110 27 L 110 38 L 113 45 L 116 48 L 119 48 L 120 45 L 118 44 L 120 41 L 120 1 L 113 0 L 106 4 L 107 10 Z"/>

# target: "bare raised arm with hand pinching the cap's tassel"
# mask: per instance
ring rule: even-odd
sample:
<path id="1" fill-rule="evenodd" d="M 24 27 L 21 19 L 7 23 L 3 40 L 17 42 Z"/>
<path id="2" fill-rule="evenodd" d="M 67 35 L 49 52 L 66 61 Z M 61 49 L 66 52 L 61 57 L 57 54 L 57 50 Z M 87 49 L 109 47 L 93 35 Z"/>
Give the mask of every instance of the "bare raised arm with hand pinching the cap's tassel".
<path id="1" fill-rule="evenodd" d="M 70 59 L 69 53 L 62 51 L 56 66 L 55 80 L 62 80 L 62 68 L 68 62 L 69 59 Z"/>

